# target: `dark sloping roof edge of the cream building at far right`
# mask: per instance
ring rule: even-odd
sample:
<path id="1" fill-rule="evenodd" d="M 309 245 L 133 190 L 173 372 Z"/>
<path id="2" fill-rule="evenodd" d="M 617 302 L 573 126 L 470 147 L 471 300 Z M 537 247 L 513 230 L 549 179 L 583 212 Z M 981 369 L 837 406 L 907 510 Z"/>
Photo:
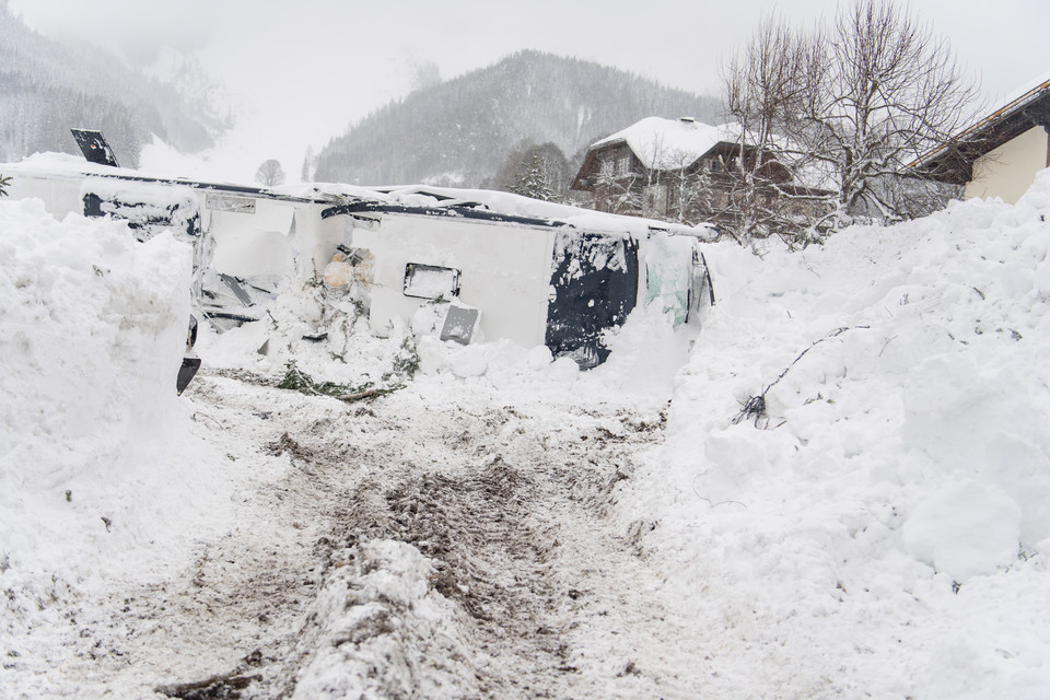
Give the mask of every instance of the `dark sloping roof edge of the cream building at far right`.
<path id="1" fill-rule="evenodd" d="M 1002 107 L 924 154 L 912 166 L 936 180 L 965 185 L 973 177 L 975 161 L 1032 127 L 1050 131 L 1050 71 L 1014 91 Z"/>

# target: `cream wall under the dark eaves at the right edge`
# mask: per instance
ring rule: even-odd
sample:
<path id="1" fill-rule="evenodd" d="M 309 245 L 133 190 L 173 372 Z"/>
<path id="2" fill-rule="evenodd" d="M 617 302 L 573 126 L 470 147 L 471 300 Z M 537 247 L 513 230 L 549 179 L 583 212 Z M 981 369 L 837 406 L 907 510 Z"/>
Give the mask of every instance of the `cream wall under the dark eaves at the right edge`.
<path id="1" fill-rule="evenodd" d="M 1034 127 L 1007 141 L 973 163 L 973 179 L 966 185 L 965 197 L 1000 197 L 1015 203 L 1028 191 L 1036 173 L 1047 167 L 1050 136 Z"/>

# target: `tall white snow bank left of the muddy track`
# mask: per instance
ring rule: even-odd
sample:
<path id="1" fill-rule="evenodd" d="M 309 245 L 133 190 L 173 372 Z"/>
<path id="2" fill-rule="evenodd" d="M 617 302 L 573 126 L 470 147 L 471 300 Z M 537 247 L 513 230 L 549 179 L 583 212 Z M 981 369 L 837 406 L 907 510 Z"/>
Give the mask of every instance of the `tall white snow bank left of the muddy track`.
<path id="1" fill-rule="evenodd" d="M 188 546 L 180 530 L 208 508 L 192 482 L 214 490 L 175 395 L 189 271 L 170 235 L 137 243 L 124 223 L 0 201 L 5 621 L 67 585 L 149 572 L 163 542 Z"/>

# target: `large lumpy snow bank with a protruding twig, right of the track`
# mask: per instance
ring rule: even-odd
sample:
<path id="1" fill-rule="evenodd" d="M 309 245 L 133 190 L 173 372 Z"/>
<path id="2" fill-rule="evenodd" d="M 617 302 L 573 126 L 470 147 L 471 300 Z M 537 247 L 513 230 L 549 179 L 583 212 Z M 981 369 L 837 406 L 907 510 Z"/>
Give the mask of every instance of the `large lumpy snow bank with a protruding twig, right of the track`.
<path id="1" fill-rule="evenodd" d="M 1046 697 L 1048 218 L 1045 171 L 1016 207 L 708 253 L 720 305 L 621 516 L 711 697 Z"/>

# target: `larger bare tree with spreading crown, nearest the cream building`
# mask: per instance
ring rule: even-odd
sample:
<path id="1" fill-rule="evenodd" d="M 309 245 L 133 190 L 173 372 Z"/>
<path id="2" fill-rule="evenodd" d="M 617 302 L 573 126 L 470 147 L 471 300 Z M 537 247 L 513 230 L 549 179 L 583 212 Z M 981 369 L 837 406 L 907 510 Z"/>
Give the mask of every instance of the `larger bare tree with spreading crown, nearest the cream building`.
<path id="1" fill-rule="evenodd" d="M 975 86 L 947 42 L 894 0 L 856 0 L 816 48 L 828 68 L 803 133 L 839 175 L 839 213 L 899 218 L 886 182 L 965 126 Z"/>

